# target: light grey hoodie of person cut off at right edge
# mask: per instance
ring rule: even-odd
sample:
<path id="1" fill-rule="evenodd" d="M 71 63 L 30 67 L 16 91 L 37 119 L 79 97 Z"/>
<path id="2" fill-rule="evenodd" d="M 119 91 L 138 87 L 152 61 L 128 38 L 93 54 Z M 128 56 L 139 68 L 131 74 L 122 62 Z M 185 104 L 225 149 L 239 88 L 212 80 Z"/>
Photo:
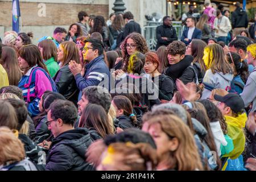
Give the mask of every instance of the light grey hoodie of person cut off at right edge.
<path id="1" fill-rule="evenodd" d="M 248 77 L 246 85 L 243 88 L 243 92 L 240 95 L 243 102 L 245 102 L 245 107 L 249 106 L 251 102 L 253 102 L 253 108 L 251 110 L 256 110 L 256 67 Z"/>

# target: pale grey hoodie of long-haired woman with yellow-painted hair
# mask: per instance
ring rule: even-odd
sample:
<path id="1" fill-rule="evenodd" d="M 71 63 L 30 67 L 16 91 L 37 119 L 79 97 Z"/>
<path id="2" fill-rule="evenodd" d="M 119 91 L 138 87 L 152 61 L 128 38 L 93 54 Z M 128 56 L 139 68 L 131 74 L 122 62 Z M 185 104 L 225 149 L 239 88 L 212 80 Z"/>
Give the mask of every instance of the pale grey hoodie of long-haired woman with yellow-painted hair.
<path id="1" fill-rule="evenodd" d="M 208 69 L 205 72 L 203 83 L 212 86 L 214 89 L 226 89 L 230 86 L 232 80 L 233 74 L 231 73 L 226 73 L 224 75 L 222 72 L 216 72 L 215 74 L 213 74 L 212 70 Z M 211 92 L 212 90 L 205 88 L 201 99 L 208 98 Z"/>

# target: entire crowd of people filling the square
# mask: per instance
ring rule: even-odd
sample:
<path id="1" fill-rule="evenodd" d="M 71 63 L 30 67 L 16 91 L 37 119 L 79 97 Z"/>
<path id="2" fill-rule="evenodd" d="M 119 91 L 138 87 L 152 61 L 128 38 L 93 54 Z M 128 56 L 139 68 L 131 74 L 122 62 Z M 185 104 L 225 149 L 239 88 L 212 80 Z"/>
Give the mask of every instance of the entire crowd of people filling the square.
<path id="1" fill-rule="evenodd" d="M 232 26 L 189 10 L 181 41 L 165 16 L 156 51 L 130 11 L 81 11 L 37 46 L 6 32 L 0 170 L 256 170 L 256 44 L 236 5 Z"/>

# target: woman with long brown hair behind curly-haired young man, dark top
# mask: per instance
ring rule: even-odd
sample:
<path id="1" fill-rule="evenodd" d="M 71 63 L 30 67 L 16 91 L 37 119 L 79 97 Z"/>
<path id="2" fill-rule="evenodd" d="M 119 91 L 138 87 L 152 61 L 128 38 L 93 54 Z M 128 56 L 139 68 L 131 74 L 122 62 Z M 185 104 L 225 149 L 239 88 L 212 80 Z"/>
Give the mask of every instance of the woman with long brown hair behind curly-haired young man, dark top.
<path id="1" fill-rule="evenodd" d="M 204 74 L 206 72 L 206 67 L 204 64 L 204 48 L 207 47 L 207 44 L 200 39 L 193 39 L 191 43 L 188 44 L 186 55 L 191 55 L 193 59 L 193 68 L 197 73 L 197 78 L 199 84 L 203 82 Z"/>

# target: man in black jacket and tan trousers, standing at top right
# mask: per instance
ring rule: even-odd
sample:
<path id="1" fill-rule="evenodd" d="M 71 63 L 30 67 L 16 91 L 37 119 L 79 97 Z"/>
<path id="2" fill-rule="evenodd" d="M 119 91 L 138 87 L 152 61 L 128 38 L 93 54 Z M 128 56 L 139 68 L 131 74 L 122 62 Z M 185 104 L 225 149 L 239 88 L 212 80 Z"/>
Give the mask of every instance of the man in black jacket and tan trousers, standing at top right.
<path id="1" fill-rule="evenodd" d="M 245 30 L 249 23 L 246 11 L 240 6 L 240 2 L 237 2 L 237 9 L 232 13 L 233 37 L 239 35 L 242 30 Z"/>

